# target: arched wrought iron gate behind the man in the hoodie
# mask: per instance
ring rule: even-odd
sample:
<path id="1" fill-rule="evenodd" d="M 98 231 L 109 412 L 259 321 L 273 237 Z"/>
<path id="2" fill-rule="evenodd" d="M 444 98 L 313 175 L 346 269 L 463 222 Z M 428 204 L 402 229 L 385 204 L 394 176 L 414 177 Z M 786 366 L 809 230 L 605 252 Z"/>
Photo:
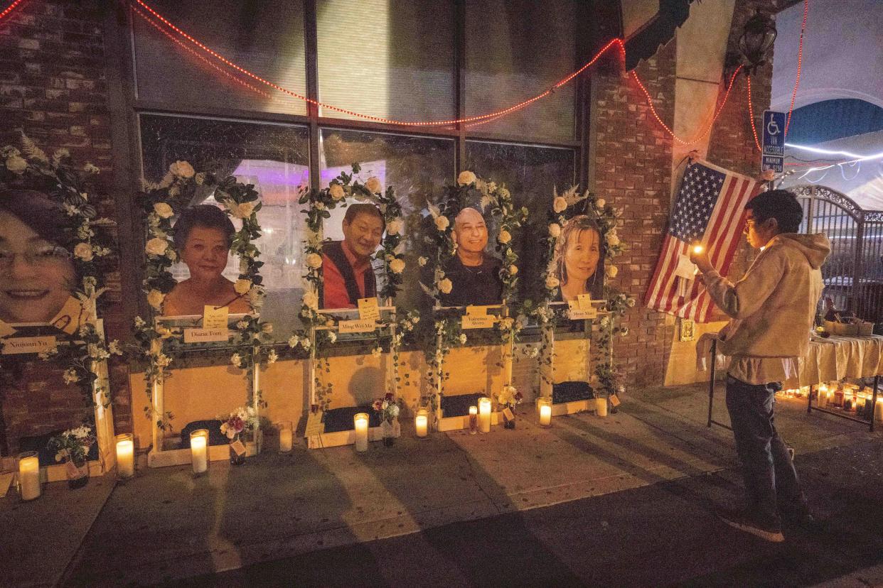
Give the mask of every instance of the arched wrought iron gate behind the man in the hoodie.
<path id="1" fill-rule="evenodd" d="M 883 332 L 883 212 L 865 211 L 825 186 L 789 187 L 804 207 L 801 233 L 824 233 L 831 256 L 822 267 L 823 298 L 877 324 Z"/>

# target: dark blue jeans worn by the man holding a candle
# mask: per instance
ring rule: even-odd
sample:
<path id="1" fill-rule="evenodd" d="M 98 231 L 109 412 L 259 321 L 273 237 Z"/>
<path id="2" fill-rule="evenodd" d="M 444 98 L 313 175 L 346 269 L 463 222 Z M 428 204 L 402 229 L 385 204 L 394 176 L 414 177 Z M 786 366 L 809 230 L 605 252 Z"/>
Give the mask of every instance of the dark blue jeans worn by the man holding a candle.
<path id="1" fill-rule="evenodd" d="M 774 424 L 774 394 L 781 383 L 751 384 L 727 376 L 727 410 L 736 437 L 736 452 L 748 507 L 769 523 L 779 522 L 779 510 L 806 504 L 788 447 Z"/>

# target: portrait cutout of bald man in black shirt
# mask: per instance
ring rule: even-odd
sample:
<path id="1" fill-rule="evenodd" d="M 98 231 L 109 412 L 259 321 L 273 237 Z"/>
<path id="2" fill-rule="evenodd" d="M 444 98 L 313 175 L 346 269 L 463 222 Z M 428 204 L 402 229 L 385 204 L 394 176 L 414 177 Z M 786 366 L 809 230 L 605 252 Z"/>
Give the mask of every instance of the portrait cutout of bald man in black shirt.
<path id="1" fill-rule="evenodd" d="M 453 287 L 442 294 L 445 306 L 499 304 L 502 300 L 502 262 L 487 255 L 487 224 L 481 212 L 464 208 L 454 220 L 457 255 L 444 267 Z"/>

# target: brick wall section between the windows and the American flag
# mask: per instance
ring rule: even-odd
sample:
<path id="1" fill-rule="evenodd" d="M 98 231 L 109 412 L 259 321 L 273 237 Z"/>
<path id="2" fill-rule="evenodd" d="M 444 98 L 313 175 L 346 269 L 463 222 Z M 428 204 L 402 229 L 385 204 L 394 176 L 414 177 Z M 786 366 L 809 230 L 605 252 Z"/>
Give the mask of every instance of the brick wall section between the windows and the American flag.
<path id="1" fill-rule="evenodd" d="M 674 117 L 675 41 L 638 65 L 638 77 L 653 96 L 669 126 Z M 622 66 L 595 74 L 596 112 L 594 190 L 623 209 L 620 235 L 627 249 L 617 258 L 614 283 L 638 304 L 623 317 L 629 334 L 615 341 L 614 352 L 627 383 L 661 384 L 668 364 L 672 328 L 666 316 L 640 301 L 653 277 L 662 234 L 668 222 L 672 139 L 653 118 L 644 93 Z"/>

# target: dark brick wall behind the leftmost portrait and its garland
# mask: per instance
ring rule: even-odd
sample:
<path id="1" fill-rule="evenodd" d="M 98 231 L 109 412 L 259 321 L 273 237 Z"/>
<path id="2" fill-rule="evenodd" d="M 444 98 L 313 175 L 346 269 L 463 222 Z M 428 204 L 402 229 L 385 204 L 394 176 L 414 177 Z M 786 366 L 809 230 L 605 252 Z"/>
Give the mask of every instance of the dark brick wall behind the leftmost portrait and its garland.
<path id="1" fill-rule="evenodd" d="M 107 107 L 100 2 L 39 0 L 23 4 L 0 24 L 0 145 L 19 145 L 20 133 L 44 151 L 66 147 L 75 161 L 101 167 L 99 215 L 116 218 L 109 194 L 110 117 Z M 109 276 L 102 316 L 109 336 L 123 335 L 119 275 Z M 6 365 L 10 361 L 4 360 Z M 4 375 L 3 417 L 8 450 L 22 435 L 41 435 L 79 424 L 87 414 L 78 388 L 42 361 L 13 362 Z M 117 430 L 132 428 L 125 365 L 111 368 Z"/>

